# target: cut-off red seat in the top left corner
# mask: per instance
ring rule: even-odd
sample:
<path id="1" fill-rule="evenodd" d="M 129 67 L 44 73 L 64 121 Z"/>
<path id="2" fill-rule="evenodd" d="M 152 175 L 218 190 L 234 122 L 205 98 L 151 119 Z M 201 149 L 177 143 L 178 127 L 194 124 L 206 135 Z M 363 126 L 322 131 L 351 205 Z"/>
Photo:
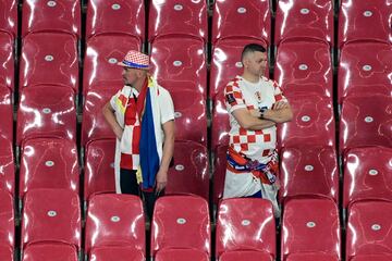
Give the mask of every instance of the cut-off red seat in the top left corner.
<path id="1" fill-rule="evenodd" d="M 0 30 L 17 36 L 17 2 L 16 0 L 0 1 Z"/>

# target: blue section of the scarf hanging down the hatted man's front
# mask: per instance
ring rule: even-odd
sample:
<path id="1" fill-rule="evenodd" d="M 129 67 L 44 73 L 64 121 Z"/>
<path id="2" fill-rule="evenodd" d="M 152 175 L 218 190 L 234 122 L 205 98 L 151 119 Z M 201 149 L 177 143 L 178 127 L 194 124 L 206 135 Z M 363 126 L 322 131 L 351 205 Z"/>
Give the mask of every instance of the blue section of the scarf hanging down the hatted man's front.
<path id="1" fill-rule="evenodd" d="M 146 94 L 145 112 L 142 120 L 142 134 L 139 142 L 143 176 L 142 187 L 144 189 L 154 188 L 160 163 L 154 128 L 150 91 L 152 91 L 151 88 L 148 88 Z"/>

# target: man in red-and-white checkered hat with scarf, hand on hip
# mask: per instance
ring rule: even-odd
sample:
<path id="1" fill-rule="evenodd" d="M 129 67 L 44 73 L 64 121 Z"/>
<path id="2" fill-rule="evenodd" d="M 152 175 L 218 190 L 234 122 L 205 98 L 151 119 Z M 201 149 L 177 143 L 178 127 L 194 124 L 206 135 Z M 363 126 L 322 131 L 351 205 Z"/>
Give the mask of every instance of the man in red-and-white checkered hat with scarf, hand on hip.
<path id="1" fill-rule="evenodd" d="M 118 65 L 123 67 L 124 86 L 102 108 L 117 136 L 115 190 L 132 195 L 142 190 L 151 216 L 173 157 L 173 101 L 148 74 L 148 55 L 132 50 Z"/>

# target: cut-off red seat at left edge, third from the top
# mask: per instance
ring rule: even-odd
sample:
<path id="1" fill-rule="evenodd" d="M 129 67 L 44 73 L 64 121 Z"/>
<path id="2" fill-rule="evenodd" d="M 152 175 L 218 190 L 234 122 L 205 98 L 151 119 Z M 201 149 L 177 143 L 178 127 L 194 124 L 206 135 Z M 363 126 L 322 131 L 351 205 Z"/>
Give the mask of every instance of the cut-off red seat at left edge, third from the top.
<path id="1" fill-rule="evenodd" d="M 0 85 L 0 137 L 12 140 L 13 137 L 13 105 L 11 90 Z"/>

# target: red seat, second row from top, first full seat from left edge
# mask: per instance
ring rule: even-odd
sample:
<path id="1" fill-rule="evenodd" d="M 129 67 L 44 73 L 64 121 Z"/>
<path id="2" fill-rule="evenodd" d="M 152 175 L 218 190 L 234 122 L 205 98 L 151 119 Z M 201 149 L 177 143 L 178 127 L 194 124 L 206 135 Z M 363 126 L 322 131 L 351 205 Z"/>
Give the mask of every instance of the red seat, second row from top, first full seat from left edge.
<path id="1" fill-rule="evenodd" d="M 76 37 L 69 34 L 37 33 L 24 37 L 20 65 L 20 88 L 47 84 L 71 86 L 77 92 L 76 42 Z"/>

